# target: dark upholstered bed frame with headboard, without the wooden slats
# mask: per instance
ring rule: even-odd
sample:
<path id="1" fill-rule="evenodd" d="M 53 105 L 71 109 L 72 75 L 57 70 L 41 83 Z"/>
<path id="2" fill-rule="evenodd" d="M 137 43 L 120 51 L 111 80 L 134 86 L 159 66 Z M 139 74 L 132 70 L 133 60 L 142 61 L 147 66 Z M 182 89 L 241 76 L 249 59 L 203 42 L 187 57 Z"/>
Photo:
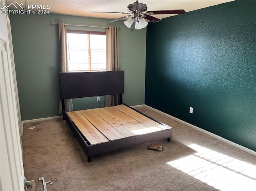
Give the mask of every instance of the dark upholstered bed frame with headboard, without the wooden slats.
<path id="1" fill-rule="evenodd" d="M 158 122 L 157 120 L 146 116 L 145 114 L 135 110 L 136 112 L 154 120 L 160 125 L 166 127 L 164 130 L 150 132 L 147 134 L 140 134 L 128 136 L 116 140 L 109 140 L 98 144 L 90 144 L 86 137 L 81 133 L 79 128 L 70 118 L 65 110 L 65 99 L 82 98 L 91 96 L 105 96 L 105 95 L 120 95 L 120 104 L 122 103 L 122 94 L 124 93 L 124 71 L 103 71 L 103 72 L 81 72 L 81 73 L 59 73 L 60 82 L 60 99 L 62 102 L 63 120 L 66 120 L 68 126 L 72 130 L 74 136 L 78 140 L 82 149 L 84 150 L 88 162 L 91 161 L 92 156 L 102 153 L 127 148 L 130 146 L 151 142 L 167 138 L 170 142 L 172 136 L 172 128 Z M 126 105 L 126 104 L 124 104 Z M 127 106 L 127 105 L 126 105 Z"/>

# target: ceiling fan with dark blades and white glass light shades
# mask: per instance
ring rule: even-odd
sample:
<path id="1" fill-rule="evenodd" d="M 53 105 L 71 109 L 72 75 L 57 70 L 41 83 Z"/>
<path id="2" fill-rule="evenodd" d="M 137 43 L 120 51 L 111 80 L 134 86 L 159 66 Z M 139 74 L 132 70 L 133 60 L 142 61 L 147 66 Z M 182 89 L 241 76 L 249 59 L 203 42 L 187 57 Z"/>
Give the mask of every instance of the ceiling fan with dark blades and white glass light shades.
<path id="1" fill-rule="evenodd" d="M 136 0 L 136 2 L 134 2 L 133 4 L 129 4 L 127 6 L 127 11 L 129 13 L 124 13 L 124 12 L 95 12 L 95 11 L 91 11 L 92 13 L 121 13 L 121 14 L 129 14 L 127 16 L 112 20 L 110 22 L 115 22 L 124 18 L 129 18 L 128 20 L 126 20 L 124 22 L 124 24 L 128 27 L 131 28 L 132 23 L 135 21 L 135 29 L 142 29 L 145 28 L 148 25 L 148 22 L 146 22 L 144 20 L 144 18 L 146 20 L 151 21 L 152 23 L 156 23 L 161 21 L 161 19 L 158 19 L 156 17 L 153 17 L 151 15 L 161 15 L 161 14 L 184 14 L 185 10 L 183 9 L 178 9 L 178 10 L 158 10 L 158 11 L 147 11 L 148 10 L 148 6 L 146 4 L 143 3 L 139 3 L 138 0 Z M 147 11 L 147 12 L 146 12 Z M 144 13 L 146 12 L 146 13 Z"/>

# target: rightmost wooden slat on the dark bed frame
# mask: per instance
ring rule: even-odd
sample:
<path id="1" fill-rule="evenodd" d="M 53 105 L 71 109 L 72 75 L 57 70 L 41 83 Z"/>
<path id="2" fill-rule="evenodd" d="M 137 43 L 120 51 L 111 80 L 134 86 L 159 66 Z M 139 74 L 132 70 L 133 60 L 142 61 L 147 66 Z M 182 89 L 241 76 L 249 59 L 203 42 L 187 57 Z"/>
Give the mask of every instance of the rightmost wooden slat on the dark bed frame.
<path id="1" fill-rule="evenodd" d="M 154 120 L 147 118 L 146 116 L 134 111 L 132 108 L 129 108 L 123 104 L 114 106 L 114 108 L 124 112 L 125 114 L 129 115 L 130 117 L 134 118 L 135 120 L 141 122 L 142 124 L 148 126 L 149 128 L 154 129 L 155 131 L 160 131 L 163 129 L 169 129 L 170 127 L 163 126 Z"/>

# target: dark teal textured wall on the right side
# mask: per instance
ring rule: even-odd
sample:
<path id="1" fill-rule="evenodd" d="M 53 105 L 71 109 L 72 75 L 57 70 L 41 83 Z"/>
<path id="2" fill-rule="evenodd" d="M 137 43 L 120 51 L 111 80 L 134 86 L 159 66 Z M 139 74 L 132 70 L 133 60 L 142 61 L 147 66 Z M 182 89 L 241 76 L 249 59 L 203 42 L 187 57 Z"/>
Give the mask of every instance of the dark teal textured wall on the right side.
<path id="1" fill-rule="evenodd" d="M 148 24 L 145 104 L 256 151 L 255 8 L 233 1 Z"/>

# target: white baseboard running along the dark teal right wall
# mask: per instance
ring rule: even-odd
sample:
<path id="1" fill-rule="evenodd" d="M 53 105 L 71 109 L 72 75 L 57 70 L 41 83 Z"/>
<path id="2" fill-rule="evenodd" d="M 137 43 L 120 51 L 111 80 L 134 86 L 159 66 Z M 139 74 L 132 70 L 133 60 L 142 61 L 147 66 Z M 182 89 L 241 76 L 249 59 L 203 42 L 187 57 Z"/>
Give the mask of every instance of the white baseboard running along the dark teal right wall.
<path id="1" fill-rule="evenodd" d="M 201 128 L 199 128 L 199 127 L 197 127 L 197 126 L 194 126 L 194 125 L 192 125 L 192 124 L 190 124 L 190 123 L 188 123 L 188 122 L 182 121 L 182 120 L 180 120 L 180 119 L 178 119 L 178 118 L 176 118 L 176 117 L 173 117 L 173 116 L 171 116 L 171 115 L 169 115 L 169 114 L 166 114 L 166 113 L 164 113 L 164 112 L 162 112 L 162 111 L 159 111 L 159 110 L 157 110 L 157 109 L 155 109 L 155 108 L 152 108 L 152 107 L 150 107 L 150 106 L 147 106 L 147 105 L 142 105 L 142 106 L 145 106 L 145 107 L 147 107 L 147 108 L 150 108 L 150 109 L 152 109 L 152 110 L 154 110 L 154 111 L 156 111 L 156 112 L 158 112 L 158 113 L 160 113 L 160 114 L 163 114 L 164 116 L 167 116 L 167 117 L 169 117 L 169 118 L 172 118 L 172 119 L 174 119 L 174 120 L 176 120 L 176 121 L 178 121 L 178 122 L 180 122 L 180 123 L 182 123 L 182 124 L 185 124 L 185 125 L 187 125 L 187 126 L 189 126 L 189 127 L 192 127 L 192 128 L 194 128 L 194 129 L 196 129 L 196 130 L 198 130 L 198 131 L 201 131 L 201 132 L 203 132 L 203 133 L 205 133 L 205 134 L 208 134 L 208 135 L 210 135 L 210 136 L 212 136 L 212 137 L 214 137 L 214 138 L 216 138 L 216 139 L 218 139 L 218 140 L 221 140 L 221 141 L 223 141 L 223 142 L 225 142 L 225 143 L 228 143 L 228 144 L 230 144 L 230 145 L 232 145 L 232 146 L 234 146 L 234 147 L 236 147 L 236 148 L 239 148 L 239 149 L 241 149 L 241 150 L 243 150 L 243 151 L 245 151 L 245 152 L 248 152 L 248 153 L 250 153 L 250 154 L 256 156 L 256 152 L 255 152 L 254 150 L 250 150 L 250 149 L 248 149 L 248 148 L 246 148 L 246 147 L 244 147 L 244 146 L 241 146 L 241 145 L 239 145 L 239 144 L 236 144 L 236 143 L 234 143 L 234 142 L 232 142 L 232 141 L 230 141 L 230 140 L 227 140 L 227 139 L 225 139 L 225 138 L 222 138 L 222 137 L 220 137 L 220 136 L 218 136 L 218 135 L 216 135 L 216 134 L 213 134 L 213 133 L 208 132 L 208 131 L 206 131 L 206 130 L 204 130 L 204 129 L 201 129 Z"/>

